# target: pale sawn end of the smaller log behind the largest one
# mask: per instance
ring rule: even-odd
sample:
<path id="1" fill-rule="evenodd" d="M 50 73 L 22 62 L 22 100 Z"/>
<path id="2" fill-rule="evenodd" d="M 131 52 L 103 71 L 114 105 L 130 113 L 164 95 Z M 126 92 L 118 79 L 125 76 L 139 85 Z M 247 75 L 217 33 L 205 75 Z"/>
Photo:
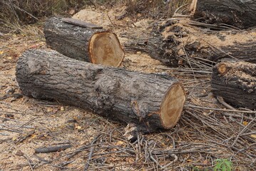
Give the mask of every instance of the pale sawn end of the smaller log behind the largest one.
<path id="1" fill-rule="evenodd" d="M 124 52 L 115 33 L 93 34 L 88 48 L 92 63 L 118 67 L 123 61 Z"/>

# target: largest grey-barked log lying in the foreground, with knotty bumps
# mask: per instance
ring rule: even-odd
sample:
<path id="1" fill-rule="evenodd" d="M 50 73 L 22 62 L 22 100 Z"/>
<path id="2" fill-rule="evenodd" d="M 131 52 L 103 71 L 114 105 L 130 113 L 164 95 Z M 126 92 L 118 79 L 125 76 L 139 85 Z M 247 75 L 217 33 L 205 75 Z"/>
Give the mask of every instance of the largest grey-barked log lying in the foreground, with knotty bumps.
<path id="1" fill-rule="evenodd" d="M 173 128 L 185 103 L 175 78 L 81 63 L 56 51 L 23 53 L 16 80 L 24 95 L 90 109 L 143 132 Z"/>

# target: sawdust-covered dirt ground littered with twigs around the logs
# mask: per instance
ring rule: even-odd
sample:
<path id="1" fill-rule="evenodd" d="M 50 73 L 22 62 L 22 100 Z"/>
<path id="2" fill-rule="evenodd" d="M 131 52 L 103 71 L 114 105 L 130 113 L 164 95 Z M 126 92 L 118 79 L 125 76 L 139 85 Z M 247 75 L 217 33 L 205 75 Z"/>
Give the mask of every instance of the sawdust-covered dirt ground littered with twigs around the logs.
<path id="1" fill-rule="evenodd" d="M 143 30 L 152 21 L 116 20 L 122 11 L 123 6 L 110 11 L 86 9 L 73 18 L 117 33 L 123 44 L 127 41 L 120 36 L 123 30 Z M 210 74 L 195 76 L 163 66 L 145 53 L 126 52 L 121 67 L 170 74 L 183 83 L 187 93 L 183 116 L 175 128 L 138 135 L 131 143 L 123 137 L 126 125 L 87 110 L 21 95 L 16 61 L 29 48 L 46 48 L 42 26 L 34 28 L 34 34 L 9 33 L 0 38 L 0 170 L 213 170 L 216 159 L 231 160 L 233 170 L 255 170 L 255 137 L 250 137 L 255 133 L 255 119 L 250 118 L 255 116 L 232 117 L 232 113 L 208 109 L 224 108 L 210 93 Z M 71 147 L 35 152 L 56 145 Z"/>

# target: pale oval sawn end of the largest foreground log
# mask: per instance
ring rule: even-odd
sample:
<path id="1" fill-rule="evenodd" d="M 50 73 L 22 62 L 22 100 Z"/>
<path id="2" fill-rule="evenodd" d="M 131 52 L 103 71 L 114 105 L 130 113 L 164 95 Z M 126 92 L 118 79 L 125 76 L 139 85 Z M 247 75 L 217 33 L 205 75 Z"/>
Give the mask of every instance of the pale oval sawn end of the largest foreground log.
<path id="1" fill-rule="evenodd" d="M 180 84 L 173 85 L 161 104 L 160 118 L 165 128 L 173 128 L 183 111 L 185 93 Z"/>

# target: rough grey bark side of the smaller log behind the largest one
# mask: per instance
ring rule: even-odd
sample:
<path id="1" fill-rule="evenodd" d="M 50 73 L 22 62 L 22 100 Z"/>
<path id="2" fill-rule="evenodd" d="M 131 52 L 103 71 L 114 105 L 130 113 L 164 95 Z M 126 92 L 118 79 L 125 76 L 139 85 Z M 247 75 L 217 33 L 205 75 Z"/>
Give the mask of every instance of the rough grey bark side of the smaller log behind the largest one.
<path id="1" fill-rule="evenodd" d="M 88 42 L 93 33 L 102 29 L 83 28 L 52 17 L 46 21 L 43 29 L 46 44 L 59 53 L 80 61 L 91 62 L 88 54 Z"/>

